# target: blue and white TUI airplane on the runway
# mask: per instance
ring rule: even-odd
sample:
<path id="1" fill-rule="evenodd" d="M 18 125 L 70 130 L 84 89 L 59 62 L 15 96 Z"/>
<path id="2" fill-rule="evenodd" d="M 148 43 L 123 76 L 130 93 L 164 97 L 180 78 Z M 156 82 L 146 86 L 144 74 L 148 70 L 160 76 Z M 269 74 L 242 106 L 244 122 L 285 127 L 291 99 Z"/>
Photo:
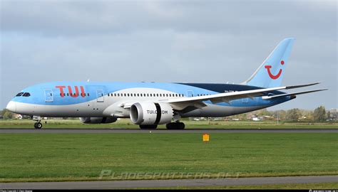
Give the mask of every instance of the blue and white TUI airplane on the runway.
<path id="1" fill-rule="evenodd" d="M 250 78 L 240 84 L 165 82 L 46 82 L 21 90 L 6 109 L 31 116 L 41 129 L 42 117 L 79 117 L 84 124 L 130 118 L 140 129 L 184 129 L 183 117 L 226 117 L 260 110 L 296 98 L 282 92 L 316 85 L 281 86 L 295 38 L 285 38 Z"/>

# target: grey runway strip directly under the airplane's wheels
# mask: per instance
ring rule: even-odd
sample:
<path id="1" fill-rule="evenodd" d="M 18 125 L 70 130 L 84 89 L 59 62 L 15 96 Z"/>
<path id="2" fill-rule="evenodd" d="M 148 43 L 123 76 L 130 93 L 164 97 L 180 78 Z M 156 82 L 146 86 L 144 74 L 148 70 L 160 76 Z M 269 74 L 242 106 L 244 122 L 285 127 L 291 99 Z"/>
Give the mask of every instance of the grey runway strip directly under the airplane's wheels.
<path id="1" fill-rule="evenodd" d="M 1 128 L 1 133 L 337 133 L 338 129 L 19 129 L 19 128 Z"/>

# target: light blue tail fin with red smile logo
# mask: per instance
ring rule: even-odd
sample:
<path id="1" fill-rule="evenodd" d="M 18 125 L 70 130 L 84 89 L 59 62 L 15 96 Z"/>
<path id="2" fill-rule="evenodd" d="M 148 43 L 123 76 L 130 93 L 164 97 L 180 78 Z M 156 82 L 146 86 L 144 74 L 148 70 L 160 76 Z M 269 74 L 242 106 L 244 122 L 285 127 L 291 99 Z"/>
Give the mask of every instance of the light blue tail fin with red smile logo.
<path id="1" fill-rule="evenodd" d="M 289 59 L 295 38 L 285 38 L 272 50 L 255 73 L 242 84 L 257 87 L 279 87 L 285 73 L 287 60 Z"/>

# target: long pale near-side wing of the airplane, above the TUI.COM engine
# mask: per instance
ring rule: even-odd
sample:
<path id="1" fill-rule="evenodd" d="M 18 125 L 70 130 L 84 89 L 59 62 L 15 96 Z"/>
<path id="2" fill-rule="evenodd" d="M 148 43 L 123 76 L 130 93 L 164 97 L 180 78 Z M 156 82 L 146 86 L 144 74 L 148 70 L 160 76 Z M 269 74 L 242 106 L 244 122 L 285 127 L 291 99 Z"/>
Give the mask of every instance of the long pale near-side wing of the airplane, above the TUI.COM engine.
<path id="1" fill-rule="evenodd" d="M 217 102 L 230 102 L 231 100 L 238 100 L 241 98 L 253 98 L 257 96 L 266 95 L 266 92 L 271 92 L 274 90 L 290 90 L 299 87 L 307 87 L 311 85 L 317 85 L 320 82 L 314 82 L 305 85 L 291 85 L 291 86 L 284 86 L 284 87 L 271 87 L 271 88 L 264 88 L 258 90 L 245 90 L 245 91 L 236 91 L 236 92 L 224 92 L 224 93 L 217 93 L 214 95 L 205 95 L 205 96 L 198 96 L 198 97 L 184 97 L 184 98 L 175 98 L 170 100 L 165 100 L 163 102 L 168 102 L 170 105 L 173 106 L 175 110 L 183 110 L 185 107 L 194 106 L 194 107 L 205 107 L 205 103 L 203 101 L 210 100 L 212 103 Z M 317 90 L 319 91 L 319 90 Z M 299 93 L 300 94 L 300 93 Z M 280 96 L 281 97 L 281 96 Z"/>

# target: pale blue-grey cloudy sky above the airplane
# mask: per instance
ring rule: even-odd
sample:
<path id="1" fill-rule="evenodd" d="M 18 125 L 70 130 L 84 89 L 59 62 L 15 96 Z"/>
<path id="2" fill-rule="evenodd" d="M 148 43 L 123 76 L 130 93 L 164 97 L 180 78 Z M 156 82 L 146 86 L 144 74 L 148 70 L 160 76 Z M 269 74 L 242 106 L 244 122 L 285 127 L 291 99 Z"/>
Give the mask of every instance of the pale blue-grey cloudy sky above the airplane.
<path id="1" fill-rule="evenodd" d="M 283 85 L 322 82 L 268 110 L 338 108 L 337 1 L 0 0 L 0 109 L 41 82 L 240 83 L 296 38 Z"/>

